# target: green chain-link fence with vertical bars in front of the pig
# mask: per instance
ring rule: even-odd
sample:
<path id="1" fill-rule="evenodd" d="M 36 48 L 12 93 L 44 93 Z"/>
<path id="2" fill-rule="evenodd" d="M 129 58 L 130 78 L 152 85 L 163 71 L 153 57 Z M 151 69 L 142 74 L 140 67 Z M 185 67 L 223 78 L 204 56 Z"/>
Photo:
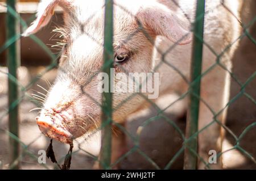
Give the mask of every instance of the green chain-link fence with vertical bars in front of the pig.
<path id="1" fill-rule="evenodd" d="M 170 0 L 171 1 L 171 0 Z M 179 8 L 181 11 L 181 7 L 179 4 L 175 1 L 172 0 L 172 2 Z M 17 75 L 17 69 L 20 66 L 20 38 L 22 37 L 20 32 L 23 32 L 27 28 L 27 22 L 25 22 L 20 14 L 16 11 L 15 9 L 15 4 L 16 1 L 14 0 L 7 0 L 6 3 L 2 3 L 1 6 L 6 7 L 7 13 L 6 13 L 6 32 L 7 32 L 7 39 L 3 45 L 0 47 L 0 54 L 7 50 L 7 66 L 9 71 L 2 71 L 0 74 L 4 74 L 8 77 L 8 82 L 9 82 L 9 108 L 0 115 L 0 125 L 3 122 L 2 120 L 9 115 L 9 128 L 6 127 L 1 127 L 0 130 L 1 132 L 5 132 L 9 136 L 9 142 L 10 142 L 10 148 L 8 149 L 8 157 L 10 156 L 10 164 L 7 166 L 7 169 L 19 169 L 20 162 L 23 162 L 26 157 L 30 157 L 31 159 L 34 159 L 34 164 L 39 164 L 37 163 L 38 161 L 38 154 L 34 153 L 34 151 L 30 150 L 30 146 L 34 144 L 36 140 L 39 139 L 39 137 L 35 137 L 35 139 L 30 142 L 30 144 L 24 144 L 22 140 L 19 138 L 19 106 L 20 103 L 26 99 L 26 100 L 31 100 L 32 103 L 35 104 L 36 107 L 42 107 L 42 103 L 44 102 L 45 98 L 43 97 L 42 94 L 38 93 L 37 95 L 31 95 L 28 91 L 33 87 L 37 81 L 39 81 L 43 75 L 48 73 L 49 71 L 56 69 L 58 66 L 58 60 L 60 57 L 60 53 L 52 53 L 51 48 L 60 48 L 62 49 L 63 46 L 65 46 L 64 41 L 60 41 L 59 44 L 57 45 L 52 45 L 51 48 L 49 48 L 48 45 L 44 44 L 42 40 L 40 40 L 38 37 L 35 35 L 31 35 L 30 39 L 35 41 L 46 54 L 48 54 L 49 57 L 51 57 L 51 64 L 46 67 L 42 71 L 42 73 L 36 75 L 34 78 L 31 79 L 31 81 L 26 85 L 23 86 L 22 83 L 19 82 L 18 75 Z M 115 4 L 115 6 L 118 6 Z M 111 74 L 110 68 L 113 68 L 114 66 L 118 66 L 119 69 L 121 69 L 122 72 L 128 73 L 128 71 L 122 66 L 122 64 L 117 64 L 114 65 L 115 63 L 113 62 L 114 60 L 114 48 L 113 48 L 113 19 L 111 18 L 113 16 L 113 2 L 112 1 L 106 1 L 106 4 L 102 9 L 105 8 L 105 36 L 104 36 L 104 65 L 101 70 L 99 70 L 94 76 L 96 77 L 100 71 L 103 71 L 107 73 L 108 75 Z M 122 11 L 125 11 L 127 14 L 130 14 L 131 16 L 134 16 L 131 12 L 127 12 L 126 7 L 119 7 L 122 9 Z M 225 49 L 222 49 L 222 52 L 218 52 L 212 48 L 212 45 L 210 45 L 208 42 L 204 41 L 203 35 L 204 35 L 204 17 L 207 14 L 212 13 L 212 11 L 216 9 L 225 9 L 225 11 L 228 12 L 229 16 L 233 16 L 236 18 L 237 22 L 239 22 L 241 26 L 241 33 L 240 36 L 236 37 L 236 40 L 234 42 L 230 42 L 230 44 L 226 45 Z M 90 19 L 93 19 L 93 16 L 90 16 L 88 21 Z M 206 129 L 209 130 L 212 125 L 216 124 L 220 126 L 222 129 L 225 130 L 226 134 L 229 134 L 233 137 L 235 140 L 235 144 L 232 146 L 232 148 L 229 148 L 228 150 L 225 151 L 220 151 L 217 152 L 217 159 L 221 158 L 224 153 L 228 153 L 229 151 L 232 150 L 238 150 L 240 153 L 242 153 L 245 157 L 249 158 L 250 161 L 252 161 L 254 164 L 256 164 L 254 155 L 249 153 L 249 151 L 245 150 L 242 148 L 240 145 L 240 142 L 242 141 L 243 137 L 247 133 L 249 133 L 255 126 L 256 122 L 255 120 L 253 123 L 251 123 L 249 126 L 247 126 L 243 132 L 237 136 L 235 133 L 232 132 L 232 130 L 227 127 L 225 124 L 223 124 L 223 121 L 219 119 L 220 115 L 224 113 L 227 108 L 232 105 L 234 102 L 238 101 L 241 96 L 246 96 L 247 99 L 249 99 L 255 106 L 255 96 L 250 95 L 246 92 L 246 86 L 251 83 L 256 75 L 256 71 L 247 79 L 245 83 L 242 83 L 236 76 L 236 74 L 232 73 L 230 71 L 230 68 L 227 68 L 226 65 L 222 64 L 221 58 L 222 56 L 225 56 L 225 53 L 228 52 L 233 46 L 236 46 L 236 44 L 243 39 L 243 37 L 247 37 L 250 39 L 251 43 L 254 44 L 255 46 L 255 39 L 253 36 L 250 35 L 249 33 L 249 28 L 253 26 L 256 20 L 256 16 L 254 15 L 254 18 L 248 23 L 248 24 L 243 24 L 241 22 L 240 17 L 237 17 L 236 14 L 232 10 L 230 10 L 230 7 L 226 6 L 225 0 L 220 1 L 220 3 L 216 7 L 211 7 L 210 10 L 207 9 L 205 11 L 205 1 L 199 0 L 197 1 L 197 11 L 196 11 L 196 18 L 195 22 L 192 22 L 191 19 L 189 19 L 189 16 L 185 14 L 184 16 L 187 17 L 187 20 L 191 23 L 191 27 L 193 31 L 193 50 L 192 50 L 192 64 L 191 64 L 191 81 L 187 78 L 187 75 L 184 75 L 182 70 L 177 69 L 174 65 L 170 64 L 170 62 L 165 60 L 165 55 L 170 53 L 171 50 L 175 49 L 178 45 L 173 44 L 171 47 L 167 48 L 166 52 L 162 52 L 159 50 L 159 53 L 162 54 L 162 61 L 160 61 L 159 65 L 155 66 L 155 69 L 152 72 L 157 71 L 160 67 L 162 66 L 169 66 L 171 69 L 175 70 L 181 78 L 183 78 L 183 81 L 187 84 L 189 89 L 182 94 L 178 99 L 174 100 L 173 102 L 170 102 L 166 108 L 161 108 L 159 107 L 155 102 L 152 100 L 148 99 L 147 96 L 140 92 L 135 92 L 134 94 L 130 95 L 127 99 L 125 99 L 123 102 L 120 102 L 118 105 L 114 105 L 113 107 L 113 94 L 111 92 L 104 92 L 102 94 L 103 102 L 99 103 L 97 100 L 93 98 L 93 95 L 89 95 L 86 91 L 82 91 L 83 94 L 86 94 L 88 97 L 92 99 L 92 101 L 95 104 L 98 104 L 101 106 L 102 109 L 102 115 L 101 115 L 101 126 L 96 130 L 93 131 L 93 133 L 90 133 L 90 136 L 95 134 L 98 131 L 101 132 L 101 154 L 99 157 L 96 155 L 89 153 L 87 150 L 82 149 L 82 144 L 86 143 L 85 141 L 82 142 L 76 142 L 77 145 L 77 150 L 73 151 L 72 157 L 75 157 L 76 154 L 79 154 L 79 151 L 83 151 L 86 153 L 89 157 L 92 158 L 92 161 L 96 161 L 100 163 L 101 168 L 103 169 L 113 169 L 115 166 L 118 164 L 122 163 L 123 159 L 126 159 L 130 154 L 133 153 L 138 153 L 139 155 L 142 155 L 144 158 L 145 162 L 149 162 L 154 169 L 170 169 L 172 165 L 176 162 L 176 160 L 185 153 L 185 159 L 184 159 L 184 169 L 196 169 L 197 168 L 197 160 L 199 160 L 201 163 L 204 163 L 204 166 L 206 169 L 211 169 L 212 164 L 208 162 L 208 160 L 205 160 L 205 158 L 201 157 L 201 155 L 198 152 L 198 139 L 197 137 L 204 132 Z M 30 19 L 34 19 L 34 15 Z M 124 40 L 123 42 L 129 43 L 129 41 L 135 36 L 137 33 L 143 33 L 144 36 L 148 38 L 148 41 L 152 45 L 154 45 L 154 41 L 150 37 L 150 35 L 147 33 L 147 31 L 144 29 L 143 25 L 139 20 L 138 22 L 138 28 L 137 31 L 131 33 L 129 36 L 129 39 Z M 19 30 L 19 27 L 22 27 L 22 30 Z M 61 33 L 60 29 L 55 30 L 55 36 L 64 36 L 63 33 Z M 84 32 L 86 33 L 86 32 Z M 183 39 L 186 38 L 187 35 L 182 37 L 179 41 L 182 41 Z M 97 41 L 96 37 L 91 37 L 93 41 Z M 96 39 L 96 40 L 95 40 Z M 203 70 L 201 72 L 201 67 L 202 67 L 202 59 L 203 59 L 203 46 L 208 47 L 212 54 L 214 54 L 216 61 L 213 65 L 209 66 L 207 70 Z M 157 49 L 157 47 L 155 47 Z M 242 66 L 242 65 L 241 65 Z M 200 81 L 203 77 L 208 75 L 210 71 L 212 71 L 214 68 L 221 68 L 222 70 L 225 70 L 228 72 L 229 76 L 235 81 L 239 86 L 240 86 L 240 92 L 234 96 L 231 97 L 230 100 L 228 101 L 227 104 L 221 109 L 221 110 L 214 110 L 208 103 L 200 96 Z M 59 68 L 59 71 L 65 71 Z M 109 82 L 111 82 L 110 79 L 111 76 L 109 76 Z M 93 79 L 92 77 L 88 83 L 85 83 L 86 87 L 90 81 Z M 74 81 L 79 81 L 75 76 L 72 76 L 72 79 Z M 137 85 L 139 87 L 142 87 L 143 83 L 137 82 Z M 51 85 L 51 83 L 49 83 Z M 4 85 L 7 86 L 7 85 Z M 40 86 L 41 87 L 41 86 Z M 81 90 L 84 90 L 84 87 L 81 87 Z M 109 85 L 111 87 L 111 85 Z M 43 91 L 48 92 L 44 87 L 41 87 Z M 38 91 L 36 91 L 38 92 Z M 149 117 L 148 119 L 143 121 L 143 124 L 139 126 L 137 129 L 136 134 L 131 134 L 127 129 L 123 126 L 123 124 L 116 123 L 113 119 L 113 113 L 117 111 L 119 108 L 122 108 L 123 104 L 127 103 L 130 99 L 133 99 L 134 96 L 140 96 L 140 98 L 143 98 L 146 100 L 148 104 L 150 104 L 154 109 L 156 110 L 156 114 L 152 117 Z M 179 125 L 176 124 L 176 122 L 170 117 L 168 117 L 165 113 L 165 111 L 172 107 L 175 103 L 179 102 L 180 100 L 183 99 L 188 99 L 189 100 L 189 107 L 188 107 L 188 113 L 187 113 L 187 123 L 186 123 L 186 131 L 182 130 Z M 216 98 L 218 99 L 218 98 Z M 203 128 L 199 128 L 199 107 L 201 104 L 204 104 L 210 110 L 212 113 L 212 121 L 207 123 L 207 125 L 204 125 Z M 93 118 L 92 118 L 93 119 Z M 152 159 L 150 156 L 148 156 L 144 151 L 140 148 L 140 138 L 141 134 L 144 128 L 146 128 L 149 124 L 154 123 L 155 121 L 157 122 L 159 119 L 163 119 L 166 121 L 166 123 L 170 124 L 175 131 L 179 134 L 179 137 L 181 138 L 181 142 L 183 144 L 181 145 L 181 148 L 179 148 L 176 152 L 176 154 L 173 155 L 172 159 L 168 161 L 167 165 L 164 167 L 160 167 L 154 159 Z M 2 124 L 3 125 L 3 124 Z M 130 150 L 128 150 L 126 153 L 122 154 L 121 157 L 116 159 L 114 162 L 111 162 L 111 153 L 112 153 L 112 137 L 114 136 L 114 130 L 118 129 L 119 132 L 122 132 L 122 134 L 125 134 L 132 142 L 133 146 Z M 39 131 L 39 129 L 38 129 Z M 154 134 L 154 132 L 152 133 Z M 43 136 L 40 136 L 43 137 Z M 200 142 L 199 142 L 200 144 Z M 56 153 L 59 154 L 59 153 Z M 208 153 L 207 153 L 208 154 Z M 65 157 L 60 158 L 59 162 L 63 162 Z M 75 164 L 75 163 L 74 163 Z M 45 163 L 40 164 L 41 166 L 45 167 L 46 169 L 49 169 L 48 165 Z M 56 168 L 56 167 L 55 167 Z M 84 168 L 80 168 L 84 169 Z"/>

